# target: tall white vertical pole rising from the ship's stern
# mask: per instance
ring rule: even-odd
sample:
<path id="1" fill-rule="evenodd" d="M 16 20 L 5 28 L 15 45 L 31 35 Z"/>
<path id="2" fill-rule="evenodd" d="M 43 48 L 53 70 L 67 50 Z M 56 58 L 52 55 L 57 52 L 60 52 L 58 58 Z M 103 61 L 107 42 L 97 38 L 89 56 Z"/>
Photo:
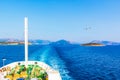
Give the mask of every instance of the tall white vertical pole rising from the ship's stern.
<path id="1" fill-rule="evenodd" d="M 25 26 L 25 65 L 28 65 L 28 18 L 24 19 Z"/>

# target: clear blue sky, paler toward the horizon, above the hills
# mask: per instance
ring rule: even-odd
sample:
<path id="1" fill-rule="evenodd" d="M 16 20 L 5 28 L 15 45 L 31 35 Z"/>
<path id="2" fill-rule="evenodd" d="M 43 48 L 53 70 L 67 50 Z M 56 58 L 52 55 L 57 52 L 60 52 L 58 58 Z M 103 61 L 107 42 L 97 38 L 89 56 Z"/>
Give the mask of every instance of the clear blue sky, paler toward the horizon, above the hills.
<path id="1" fill-rule="evenodd" d="M 120 0 L 0 0 L 0 38 L 120 42 Z"/>

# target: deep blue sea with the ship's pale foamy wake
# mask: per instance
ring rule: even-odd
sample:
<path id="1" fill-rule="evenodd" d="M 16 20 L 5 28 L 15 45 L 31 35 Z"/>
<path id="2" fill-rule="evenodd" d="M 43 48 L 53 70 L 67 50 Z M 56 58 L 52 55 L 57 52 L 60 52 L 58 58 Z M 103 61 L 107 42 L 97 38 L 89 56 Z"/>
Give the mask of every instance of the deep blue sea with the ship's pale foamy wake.
<path id="1" fill-rule="evenodd" d="M 0 67 L 24 60 L 24 46 L 0 46 Z M 29 46 L 29 60 L 59 70 L 62 80 L 120 80 L 120 46 Z"/>

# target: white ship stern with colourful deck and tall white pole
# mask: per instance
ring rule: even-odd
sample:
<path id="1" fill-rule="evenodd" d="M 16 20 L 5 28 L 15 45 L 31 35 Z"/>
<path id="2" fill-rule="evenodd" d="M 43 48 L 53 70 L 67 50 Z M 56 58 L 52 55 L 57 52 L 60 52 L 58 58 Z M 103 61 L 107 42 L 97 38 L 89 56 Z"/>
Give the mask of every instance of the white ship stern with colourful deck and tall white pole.
<path id="1" fill-rule="evenodd" d="M 28 18 L 25 17 L 25 61 L 0 68 L 0 80 L 62 80 L 59 71 L 40 61 L 28 61 Z M 6 59 L 3 59 L 6 60 Z"/>

